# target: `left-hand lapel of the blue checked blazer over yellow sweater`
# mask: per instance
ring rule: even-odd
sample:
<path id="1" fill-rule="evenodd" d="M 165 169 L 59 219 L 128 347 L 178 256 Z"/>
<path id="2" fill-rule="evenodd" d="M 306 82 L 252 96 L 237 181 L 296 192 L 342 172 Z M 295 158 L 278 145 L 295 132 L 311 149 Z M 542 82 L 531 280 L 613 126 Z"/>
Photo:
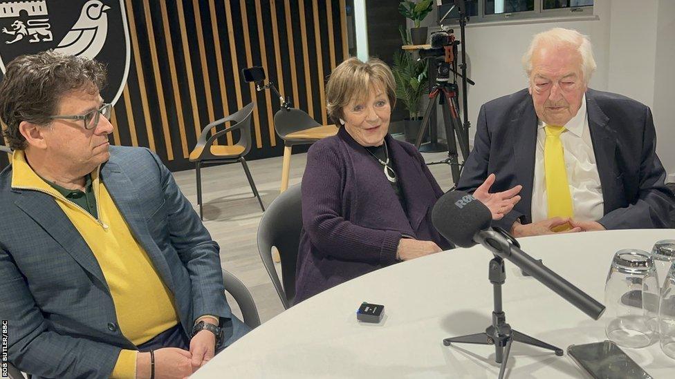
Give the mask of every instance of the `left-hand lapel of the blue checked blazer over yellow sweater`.
<path id="1" fill-rule="evenodd" d="M 89 245 L 84 242 L 82 235 L 75 229 L 71 220 L 68 220 L 66 213 L 56 204 L 53 197 L 37 191 L 21 191 L 21 196 L 15 204 L 49 233 L 77 264 L 89 271 L 93 278 L 108 289 L 103 271 Z"/>

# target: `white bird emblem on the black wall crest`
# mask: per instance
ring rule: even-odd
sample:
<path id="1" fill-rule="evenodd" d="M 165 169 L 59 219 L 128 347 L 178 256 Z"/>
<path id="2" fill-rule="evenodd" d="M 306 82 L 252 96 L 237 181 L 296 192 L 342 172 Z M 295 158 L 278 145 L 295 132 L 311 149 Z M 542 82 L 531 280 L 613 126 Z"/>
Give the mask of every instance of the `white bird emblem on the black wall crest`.
<path id="1" fill-rule="evenodd" d="M 103 48 L 108 36 L 110 7 L 100 0 L 89 0 L 82 6 L 80 18 L 54 49 L 66 55 L 78 55 L 93 59 Z"/>

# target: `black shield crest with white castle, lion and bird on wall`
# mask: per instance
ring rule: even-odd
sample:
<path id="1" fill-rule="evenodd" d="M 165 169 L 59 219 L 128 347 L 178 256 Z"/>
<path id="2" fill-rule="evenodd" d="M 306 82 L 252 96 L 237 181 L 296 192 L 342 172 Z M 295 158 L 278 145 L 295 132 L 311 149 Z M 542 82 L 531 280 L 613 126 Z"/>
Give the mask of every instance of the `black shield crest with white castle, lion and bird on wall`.
<path id="1" fill-rule="evenodd" d="M 0 0 L 0 68 L 24 54 L 54 49 L 107 65 L 101 91 L 113 104 L 129 72 L 129 27 L 124 0 Z"/>

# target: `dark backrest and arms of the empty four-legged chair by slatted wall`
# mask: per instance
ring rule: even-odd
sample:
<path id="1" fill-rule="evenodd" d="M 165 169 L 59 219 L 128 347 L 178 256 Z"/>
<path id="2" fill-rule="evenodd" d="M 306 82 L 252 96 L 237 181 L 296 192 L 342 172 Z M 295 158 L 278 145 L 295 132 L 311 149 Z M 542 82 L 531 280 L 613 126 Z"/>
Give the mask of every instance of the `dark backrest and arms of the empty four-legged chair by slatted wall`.
<path id="1" fill-rule="evenodd" d="M 205 128 L 201 131 L 201 135 L 197 139 L 197 144 L 194 146 L 195 149 L 202 149 L 198 159 L 223 159 L 223 157 L 211 154 L 211 146 L 217 138 L 233 130 L 239 130 L 241 133 L 241 137 L 239 137 L 237 145 L 242 146 L 244 149 L 243 153 L 241 153 L 239 156 L 243 157 L 244 155 L 248 154 L 252 145 L 251 116 L 253 115 L 253 108 L 255 108 L 255 103 L 249 103 L 247 106 L 237 110 L 237 112 L 232 113 L 232 115 L 223 117 L 222 119 L 216 120 L 205 126 Z M 226 122 L 231 122 L 232 126 L 226 128 L 225 130 L 220 130 L 218 133 L 214 133 L 211 137 L 207 138 L 209 131 L 214 128 L 214 126 L 219 126 L 221 124 L 225 124 Z"/>

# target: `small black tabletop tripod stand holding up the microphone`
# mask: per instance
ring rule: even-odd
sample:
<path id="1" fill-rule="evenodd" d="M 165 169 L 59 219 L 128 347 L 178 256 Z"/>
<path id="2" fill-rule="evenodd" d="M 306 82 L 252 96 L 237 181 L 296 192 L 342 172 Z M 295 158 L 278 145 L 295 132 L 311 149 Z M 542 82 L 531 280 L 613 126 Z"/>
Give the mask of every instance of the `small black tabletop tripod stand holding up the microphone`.
<path id="1" fill-rule="evenodd" d="M 515 241 L 515 240 L 514 240 Z M 517 242 L 516 242 L 517 243 Z M 508 360 L 508 353 L 511 349 L 513 341 L 529 344 L 542 349 L 553 350 L 556 356 L 562 356 L 562 349 L 547 344 L 546 342 L 537 340 L 511 329 L 510 325 L 506 323 L 506 314 L 501 309 L 501 285 L 506 280 L 506 272 L 504 271 L 504 260 L 497 255 L 490 260 L 490 269 L 488 273 L 490 283 L 492 283 L 492 290 L 494 293 L 494 310 L 492 311 L 492 325 L 486 329 L 485 333 L 469 334 L 467 336 L 445 338 L 443 344 L 450 346 L 452 343 L 466 343 L 466 344 L 494 344 L 494 362 L 501 363 L 499 369 L 499 379 L 504 377 L 506 371 L 506 361 Z"/>

